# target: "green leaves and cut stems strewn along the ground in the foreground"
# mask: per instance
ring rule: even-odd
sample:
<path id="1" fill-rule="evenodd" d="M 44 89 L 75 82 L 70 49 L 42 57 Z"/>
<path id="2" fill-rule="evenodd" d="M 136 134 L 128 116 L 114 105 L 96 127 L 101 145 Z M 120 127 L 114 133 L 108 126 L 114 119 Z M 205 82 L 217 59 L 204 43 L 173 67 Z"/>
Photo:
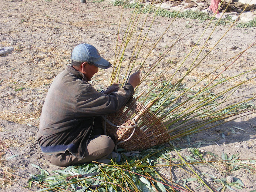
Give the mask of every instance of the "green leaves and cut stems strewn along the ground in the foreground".
<path id="1" fill-rule="evenodd" d="M 125 152 L 122 149 L 122 158 L 120 162 L 115 162 L 115 159 L 111 160 L 111 163 L 101 164 L 99 162 L 85 163 L 80 166 L 69 166 L 64 170 L 53 171 L 54 175 L 50 175 L 46 170 L 41 169 L 37 165 L 34 167 L 40 170 L 40 174 L 30 175 L 28 187 L 34 184 L 41 186 L 40 192 L 43 191 L 75 191 L 75 192 L 116 192 L 116 191 L 188 191 L 186 189 L 186 183 L 190 181 L 199 182 L 198 189 L 206 185 L 203 181 L 206 177 L 213 178 L 217 183 L 218 191 L 223 187 L 233 190 L 233 188 L 243 189 L 244 184 L 239 178 L 234 178 L 234 182 L 227 183 L 225 175 L 224 178 L 220 178 L 209 173 L 193 174 L 193 169 L 186 178 L 172 178 L 172 182 L 165 177 L 164 174 L 159 172 L 158 167 L 177 167 L 179 169 L 191 168 L 189 164 L 206 165 L 214 167 L 216 170 L 222 169 L 223 166 L 228 167 L 226 172 L 232 172 L 234 170 L 245 168 L 249 172 L 254 170 L 253 165 L 256 164 L 255 160 L 242 161 L 238 159 L 238 154 L 230 155 L 222 154 L 218 157 L 215 154 L 206 151 L 199 151 L 196 148 L 189 148 L 190 155 L 181 155 L 183 149 L 176 150 L 177 157 L 173 157 L 173 148 L 165 146 L 156 146 L 152 149 L 147 149 L 141 153 Z M 187 153 L 187 152 L 186 152 Z M 172 155 L 172 156 L 171 156 Z M 206 157 L 211 161 L 206 162 Z M 210 157 L 210 158 L 209 158 Z M 222 164 L 220 166 L 220 164 Z M 68 176 L 88 174 L 100 172 L 95 176 L 88 178 L 73 178 L 67 181 Z M 219 184 L 218 184 L 219 183 Z M 211 191 L 211 190 L 210 190 Z"/>

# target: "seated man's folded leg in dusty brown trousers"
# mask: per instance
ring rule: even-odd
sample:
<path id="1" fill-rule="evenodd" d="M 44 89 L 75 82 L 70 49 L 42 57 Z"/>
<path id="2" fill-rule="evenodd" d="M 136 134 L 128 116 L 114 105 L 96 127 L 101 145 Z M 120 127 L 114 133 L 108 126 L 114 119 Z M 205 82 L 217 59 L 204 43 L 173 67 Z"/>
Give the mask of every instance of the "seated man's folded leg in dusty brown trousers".
<path id="1" fill-rule="evenodd" d="M 111 154 L 114 148 L 114 141 L 110 137 L 107 135 L 99 135 L 98 137 L 92 138 L 88 141 L 83 159 L 77 158 L 68 151 L 63 154 L 54 154 L 51 156 L 46 155 L 46 158 L 47 160 L 50 160 L 53 165 L 69 166 L 106 158 Z"/>

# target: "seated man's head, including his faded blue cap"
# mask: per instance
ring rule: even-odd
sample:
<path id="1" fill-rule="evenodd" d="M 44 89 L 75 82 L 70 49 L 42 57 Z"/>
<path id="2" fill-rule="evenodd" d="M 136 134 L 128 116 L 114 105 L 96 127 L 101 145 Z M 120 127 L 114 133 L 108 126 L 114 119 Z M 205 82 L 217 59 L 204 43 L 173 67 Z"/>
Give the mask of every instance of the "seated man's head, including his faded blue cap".
<path id="1" fill-rule="evenodd" d="M 98 50 L 90 44 L 79 44 L 71 54 L 71 66 L 82 72 L 88 81 L 98 72 L 98 67 L 107 69 L 111 63 L 100 56 Z"/>

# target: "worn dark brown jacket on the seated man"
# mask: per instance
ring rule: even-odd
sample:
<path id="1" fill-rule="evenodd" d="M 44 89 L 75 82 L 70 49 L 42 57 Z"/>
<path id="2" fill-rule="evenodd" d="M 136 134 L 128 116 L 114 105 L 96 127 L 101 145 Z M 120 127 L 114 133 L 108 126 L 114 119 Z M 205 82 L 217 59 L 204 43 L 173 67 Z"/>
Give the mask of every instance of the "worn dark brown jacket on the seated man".
<path id="1" fill-rule="evenodd" d="M 117 112 L 133 95 L 134 88 L 123 88 L 105 95 L 88 83 L 84 74 L 68 66 L 54 79 L 40 116 L 37 141 L 44 154 L 68 150 L 83 158 L 94 119 Z"/>

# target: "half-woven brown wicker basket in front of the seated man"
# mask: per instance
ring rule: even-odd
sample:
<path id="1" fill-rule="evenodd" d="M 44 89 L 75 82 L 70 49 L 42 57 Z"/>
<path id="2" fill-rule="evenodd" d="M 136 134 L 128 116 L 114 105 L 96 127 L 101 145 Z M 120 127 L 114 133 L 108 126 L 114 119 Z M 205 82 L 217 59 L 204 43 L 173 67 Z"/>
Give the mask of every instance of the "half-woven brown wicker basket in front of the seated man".
<path id="1" fill-rule="evenodd" d="M 135 121 L 131 120 L 132 117 Z M 159 118 L 134 98 L 131 98 L 124 108 L 115 114 L 107 115 L 106 118 L 112 123 L 106 124 L 107 135 L 118 147 L 127 151 L 151 148 L 170 140 L 170 135 Z M 134 126 L 135 122 L 137 126 Z"/>

